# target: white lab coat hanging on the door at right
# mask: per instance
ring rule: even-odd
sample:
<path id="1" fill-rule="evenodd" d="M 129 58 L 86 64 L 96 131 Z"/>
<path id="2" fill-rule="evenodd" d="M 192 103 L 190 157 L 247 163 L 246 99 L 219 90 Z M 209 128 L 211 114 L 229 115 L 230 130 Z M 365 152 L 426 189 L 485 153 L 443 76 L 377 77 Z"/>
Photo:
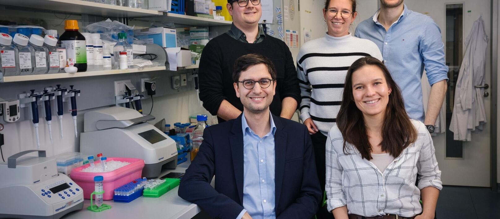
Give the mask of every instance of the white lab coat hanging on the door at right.
<path id="1" fill-rule="evenodd" d="M 471 131 L 482 130 L 486 123 L 484 88 L 474 87 L 484 85 L 488 36 L 482 16 L 474 21 L 465 41 L 466 48 L 456 80 L 449 130 L 453 132 L 453 139 L 470 141 Z"/>

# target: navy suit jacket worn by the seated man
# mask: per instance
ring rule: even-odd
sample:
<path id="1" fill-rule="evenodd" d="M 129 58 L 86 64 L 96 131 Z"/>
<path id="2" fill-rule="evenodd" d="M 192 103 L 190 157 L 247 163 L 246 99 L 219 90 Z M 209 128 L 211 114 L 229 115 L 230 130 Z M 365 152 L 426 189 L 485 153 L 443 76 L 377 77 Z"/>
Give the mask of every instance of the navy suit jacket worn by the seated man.
<path id="1" fill-rule="evenodd" d="M 309 132 L 298 122 L 275 115 L 272 118 L 276 126 L 276 218 L 311 218 L 318 209 L 321 189 Z M 214 175 L 215 188 L 210 185 Z M 212 217 L 238 216 L 243 209 L 241 115 L 204 130 L 203 142 L 180 181 L 178 195 Z"/>

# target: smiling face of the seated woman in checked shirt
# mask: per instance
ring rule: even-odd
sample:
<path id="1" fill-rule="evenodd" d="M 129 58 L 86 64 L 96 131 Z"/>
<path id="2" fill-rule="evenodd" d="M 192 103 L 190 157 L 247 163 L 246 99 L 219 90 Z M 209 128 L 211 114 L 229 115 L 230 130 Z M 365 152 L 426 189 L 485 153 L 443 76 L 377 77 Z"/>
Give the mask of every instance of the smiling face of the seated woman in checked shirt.
<path id="1" fill-rule="evenodd" d="M 382 69 L 376 65 L 364 65 L 352 72 L 352 96 L 364 116 L 383 115 L 391 91 Z"/>

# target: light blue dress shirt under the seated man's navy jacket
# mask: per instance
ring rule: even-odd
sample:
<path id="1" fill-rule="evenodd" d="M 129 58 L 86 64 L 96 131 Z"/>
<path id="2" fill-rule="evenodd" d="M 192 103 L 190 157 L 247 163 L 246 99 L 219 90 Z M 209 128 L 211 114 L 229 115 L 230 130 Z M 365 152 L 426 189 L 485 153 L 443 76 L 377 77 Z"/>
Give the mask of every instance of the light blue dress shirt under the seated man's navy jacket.
<path id="1" fill-rule="evenodd" d="M 260 138 L 241 116 L 243 131 L 243 210 L 253 219 L 276 218 L 274 195 L 274 133 L 276 126 L 269 111 L 271 129 Z"/>

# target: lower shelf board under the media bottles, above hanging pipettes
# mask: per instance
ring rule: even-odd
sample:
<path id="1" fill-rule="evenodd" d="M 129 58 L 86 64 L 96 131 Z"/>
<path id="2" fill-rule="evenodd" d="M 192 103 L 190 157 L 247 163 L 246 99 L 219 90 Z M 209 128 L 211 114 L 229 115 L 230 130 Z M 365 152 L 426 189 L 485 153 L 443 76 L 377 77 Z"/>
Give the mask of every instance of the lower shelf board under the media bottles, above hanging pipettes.
<path id="1" fill-rule="evenodd" d="M 2 73 L 0 72 L 0 82 L 73 78 L 73 77 L 155 71 L 155 70 L 165 70 L 165 69 L 166 69 L 165 66 L 158 66 L 158 67 L 145 67 L 141 70 L 138 68 L 129 68 L 129 69 L 112 69 L 112 70 L 99 70 L 99 71 L 84 71 L 76 73 L 52 73 L 52 74 L 33 74 L 33 75 L 17 75 L 17 76 L 2 76 Z"/>

